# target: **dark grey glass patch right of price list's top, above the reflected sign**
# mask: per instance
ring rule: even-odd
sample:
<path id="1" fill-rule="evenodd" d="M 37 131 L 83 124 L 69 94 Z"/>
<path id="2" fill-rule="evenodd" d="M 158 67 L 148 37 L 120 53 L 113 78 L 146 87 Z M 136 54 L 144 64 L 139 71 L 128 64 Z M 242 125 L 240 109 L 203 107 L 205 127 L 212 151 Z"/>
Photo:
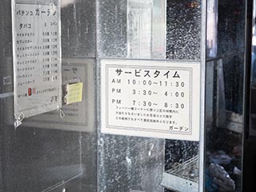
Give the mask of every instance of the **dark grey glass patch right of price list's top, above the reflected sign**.
<path id="1" fill-rule="evenodd" d="M 62 1 L 62 57 L 95 58 L 95 6 L 94 0 Z"/>

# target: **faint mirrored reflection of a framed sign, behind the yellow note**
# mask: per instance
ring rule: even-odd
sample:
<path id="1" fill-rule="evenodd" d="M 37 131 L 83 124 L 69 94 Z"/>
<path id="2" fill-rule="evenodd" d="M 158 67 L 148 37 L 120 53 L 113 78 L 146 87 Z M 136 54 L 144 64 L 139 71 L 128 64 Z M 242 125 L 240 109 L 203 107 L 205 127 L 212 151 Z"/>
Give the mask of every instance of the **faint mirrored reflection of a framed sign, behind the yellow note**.
<path id="1" fill-rule="evenodd" d="M 62 58 L 62 86 L 73 80 L 82 82 L 82 102 L 62 106 L 64 118 L 60 118 L 58 111 L 53 110 L 29 118 L 23 125 L 56 130 L 95 131 L 94 66 L 94 59 Z"/>

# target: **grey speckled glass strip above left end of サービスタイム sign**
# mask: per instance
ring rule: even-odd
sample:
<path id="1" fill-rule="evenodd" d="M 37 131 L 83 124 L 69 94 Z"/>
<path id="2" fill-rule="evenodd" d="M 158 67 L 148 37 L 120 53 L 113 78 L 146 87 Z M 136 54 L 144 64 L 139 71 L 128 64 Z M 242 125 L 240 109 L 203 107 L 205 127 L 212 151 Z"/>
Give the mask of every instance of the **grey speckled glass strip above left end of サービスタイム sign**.
<path id="1" fill-rule="evenodd" d="M 98 56 L 126 58 L 126 0 L 99 1 Z"/>

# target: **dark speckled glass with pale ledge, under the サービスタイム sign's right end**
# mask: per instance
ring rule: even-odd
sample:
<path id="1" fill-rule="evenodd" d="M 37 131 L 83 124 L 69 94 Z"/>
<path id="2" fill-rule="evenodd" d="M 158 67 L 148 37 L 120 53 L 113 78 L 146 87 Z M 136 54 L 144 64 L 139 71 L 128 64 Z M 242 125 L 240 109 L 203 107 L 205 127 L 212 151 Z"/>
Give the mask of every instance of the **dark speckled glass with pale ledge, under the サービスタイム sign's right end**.
<path id="1" fill-rule="evenodd" d="M 166 140 L 165 173 L 162 177 L 166 192 L 198 191 L 198 149 L 198 142 Z"/>

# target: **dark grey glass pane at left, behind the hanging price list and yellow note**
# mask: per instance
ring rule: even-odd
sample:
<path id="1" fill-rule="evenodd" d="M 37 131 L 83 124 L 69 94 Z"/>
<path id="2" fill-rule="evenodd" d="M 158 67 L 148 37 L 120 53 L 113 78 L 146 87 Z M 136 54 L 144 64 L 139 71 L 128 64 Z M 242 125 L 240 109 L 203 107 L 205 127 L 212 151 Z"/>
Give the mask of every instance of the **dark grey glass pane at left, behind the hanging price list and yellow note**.
<path id="1" fill-rule="evenodd" d="M 16 130 L 11 1 L 1 4 L 0 191 L 96 191 L 95 59 L 88 59 L 96 54 L 96 3 L 66 0 L 61 4 L 62 82 L 80 78 L 82 102 L 64 106 L 63 119 L 52 111 L 26 118 Z"/>

